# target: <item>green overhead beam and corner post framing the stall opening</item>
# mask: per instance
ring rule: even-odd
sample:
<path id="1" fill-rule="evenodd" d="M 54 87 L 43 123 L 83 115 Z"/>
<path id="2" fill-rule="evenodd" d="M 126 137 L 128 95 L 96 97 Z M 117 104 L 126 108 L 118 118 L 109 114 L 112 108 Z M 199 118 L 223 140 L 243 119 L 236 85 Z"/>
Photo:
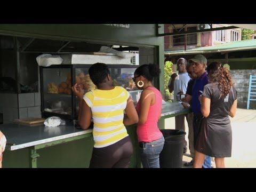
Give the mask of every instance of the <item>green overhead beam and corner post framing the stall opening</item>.
<path id="1" fill-rule="evenodd" d="M 159 27 L 158 27 L 159 26 Z M 162 71 L 157 87 L 164 92 L 164 32 L 163 24 L 129 24 L 129 28 L 103 24 L 0 24 L 0 34 L 83 41 L 113 45 L 155 47 Z"/>

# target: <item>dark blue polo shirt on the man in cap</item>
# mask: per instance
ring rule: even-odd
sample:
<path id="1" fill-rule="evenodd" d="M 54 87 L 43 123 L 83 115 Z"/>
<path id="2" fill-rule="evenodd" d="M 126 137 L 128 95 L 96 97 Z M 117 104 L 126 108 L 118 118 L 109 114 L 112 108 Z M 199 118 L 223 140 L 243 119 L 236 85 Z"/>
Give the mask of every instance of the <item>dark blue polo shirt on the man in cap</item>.
<path id="1" fill-rule="evenodd" d="M 198 99 L 200 93 L 199 91 L 204 90 L 204 85 L 208 84 L 207 71 L 203 73 L 200 77 L 197 77 L 192 89 L 192 102 L 191 102 L 191 110 L 194 114 L 202 114 L 201 112 L 201 103 Z"/>

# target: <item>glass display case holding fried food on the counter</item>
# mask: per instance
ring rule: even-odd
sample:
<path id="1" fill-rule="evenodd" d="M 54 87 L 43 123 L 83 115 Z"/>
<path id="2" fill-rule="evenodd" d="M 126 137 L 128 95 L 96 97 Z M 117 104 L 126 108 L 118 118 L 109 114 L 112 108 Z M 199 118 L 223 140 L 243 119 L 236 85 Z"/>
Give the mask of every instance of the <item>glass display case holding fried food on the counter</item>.
<path id="1" fill-rule="evenodd" d="M 88 70 L 91 65 L 52 65 L 40 67 L 42 116 L 59 116 L 64 119 L 77 119 L 78 100 L 71 86 L 79 83 L 87 91 L 97 89 L 92 83 Z M 132 81 L 135 65 L 108 65 L 115 86 L 123 86 L 137 103 L 138 90 Z M 136 96 L 137 95 L 137 96 Z"/>

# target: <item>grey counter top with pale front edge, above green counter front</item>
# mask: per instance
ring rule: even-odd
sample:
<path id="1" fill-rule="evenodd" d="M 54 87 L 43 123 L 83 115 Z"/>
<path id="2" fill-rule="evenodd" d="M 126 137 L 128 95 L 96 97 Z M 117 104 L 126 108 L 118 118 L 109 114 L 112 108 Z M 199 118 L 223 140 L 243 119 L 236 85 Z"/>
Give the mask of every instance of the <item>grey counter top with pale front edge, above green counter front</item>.
<path id="1" fill-rule="evenodd" d="M 166 102 L 162 106 L 161 117 L 176 116 L 181 113 L 189 113 L 190 109 L 185 109 L 179 102 Z M 161 122 L 161 121 L 160 121 Z M 164 127 L 164 125 L 159 126 Z M 70 122 L 66 125 L 57 127 L 46 127 L 41 124 L 22 124 L 22 123 L 6 123 L 0 125 L 0 130 L 7 139 L 7 150 L 17 150 L 21 148 L 42 145 L 44 143 L 59 141 L 63 139 L 77 137 L 79 135 L 92 135 L 92 129 L 80 130 L 75 128 Z M 65 141 L 63 141 L 65 142 Z M 42 147 L 41 147 L 42 148 Z"/>

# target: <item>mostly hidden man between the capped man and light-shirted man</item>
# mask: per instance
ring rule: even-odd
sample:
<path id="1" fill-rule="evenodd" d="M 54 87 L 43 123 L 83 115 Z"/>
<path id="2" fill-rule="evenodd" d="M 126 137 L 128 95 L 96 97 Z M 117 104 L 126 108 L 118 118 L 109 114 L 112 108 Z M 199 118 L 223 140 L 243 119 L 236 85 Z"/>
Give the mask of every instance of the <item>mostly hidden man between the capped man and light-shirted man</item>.
<path id="1" fill-rule="evenodd" d="M 185 94 L 185 98 L 182 99 L 182 105 L 184 108 L 188 108 L 188 104 L 191 105 L 191 100 L 192 100 L 192 88 L 196 79 L 196 74 L 193 71 L 193 65 L 192 63 L 188 62 L 187 63 L 187 73 L 189 77 L 191 78 L 188 82 L 188 87 L 187 87 L 187 92 Z M 188 114 L 187 122 L 188 122 L 188 143 L 189 143 L 189 151 L 190 151 L 190 156 L 192 157 L 190 162 L 184 163 L 185 166 L 193 166 L 194 163 L 194 154 L 195 154 L 195 149 L 194 149 L 194 129 L 193 129 L 193 113 Z"/>

